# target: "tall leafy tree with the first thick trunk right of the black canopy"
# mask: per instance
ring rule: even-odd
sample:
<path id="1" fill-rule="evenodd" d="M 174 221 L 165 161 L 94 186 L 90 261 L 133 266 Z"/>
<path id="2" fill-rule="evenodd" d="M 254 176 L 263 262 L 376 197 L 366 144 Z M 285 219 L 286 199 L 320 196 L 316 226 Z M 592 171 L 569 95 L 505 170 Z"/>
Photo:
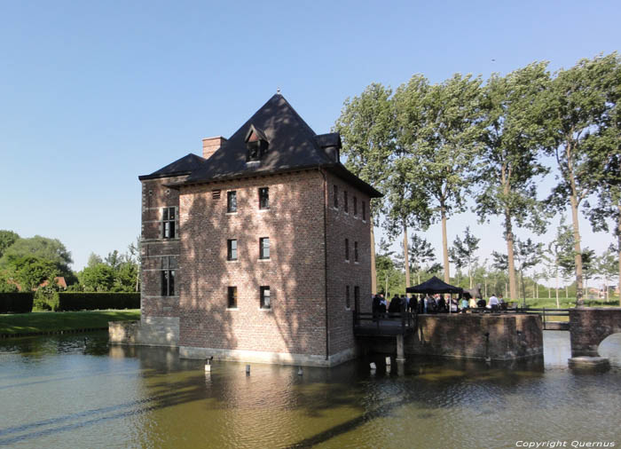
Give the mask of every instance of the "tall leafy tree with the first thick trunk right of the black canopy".
<path id="1" fill-rule="evenodd" d="M 538 161 L 541 113 L 535 99 L 550 80 L 546 65 L 533 63 L 505 77 L 493 74 L 483 89 L 484 150 L 476 176 L 482 190 L 476 195 L 476 213 L 482 222 L 489 222 L 490 216 L 503 218 L 513 300 L 517 299 L 514 226 L 535 232 L 545 227 L 535 183 L 547 171 Z"/>

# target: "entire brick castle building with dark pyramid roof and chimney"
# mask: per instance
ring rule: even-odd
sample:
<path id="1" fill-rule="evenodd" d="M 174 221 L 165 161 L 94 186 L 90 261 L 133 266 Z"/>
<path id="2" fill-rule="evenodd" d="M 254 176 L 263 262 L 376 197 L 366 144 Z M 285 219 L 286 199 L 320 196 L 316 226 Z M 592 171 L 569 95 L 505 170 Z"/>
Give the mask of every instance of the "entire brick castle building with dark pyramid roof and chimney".
<path id="1" fill-rule="evenodd" d="M 228 140 L 142 183 L 140 342 L 184 358 L 334 366 L 371 295 L 369 200 L 276 94 Z"/>

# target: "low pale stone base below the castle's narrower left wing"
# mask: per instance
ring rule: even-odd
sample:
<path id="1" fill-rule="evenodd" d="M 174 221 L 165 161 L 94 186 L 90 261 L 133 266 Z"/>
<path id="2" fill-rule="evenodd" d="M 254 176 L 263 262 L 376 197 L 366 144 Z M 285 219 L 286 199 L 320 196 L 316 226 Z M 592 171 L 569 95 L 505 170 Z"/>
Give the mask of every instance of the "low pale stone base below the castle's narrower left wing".
<path id="1" fill-rule="evenodd" d="M 145 346 L 171 346 L 179 343 L 179 319 L 146 317 L 142 321 L 110 321 L 110 343 Z"/>

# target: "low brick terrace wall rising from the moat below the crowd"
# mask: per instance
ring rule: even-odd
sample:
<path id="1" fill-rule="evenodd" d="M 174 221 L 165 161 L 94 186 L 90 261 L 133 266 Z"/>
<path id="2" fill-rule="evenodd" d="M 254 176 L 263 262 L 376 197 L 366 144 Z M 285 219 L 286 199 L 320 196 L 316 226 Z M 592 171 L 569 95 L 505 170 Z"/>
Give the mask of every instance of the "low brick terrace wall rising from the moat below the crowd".
<path id="1" fill-rule="evenodd" d="M 374 337 L 360 343 L 370 351 L 397 351 L 395 337 Z M 405 354 L 492 360 L 540 356 L 543 326 L 538 315 L 419 315 L 416 332 L 405 336 Z"/>

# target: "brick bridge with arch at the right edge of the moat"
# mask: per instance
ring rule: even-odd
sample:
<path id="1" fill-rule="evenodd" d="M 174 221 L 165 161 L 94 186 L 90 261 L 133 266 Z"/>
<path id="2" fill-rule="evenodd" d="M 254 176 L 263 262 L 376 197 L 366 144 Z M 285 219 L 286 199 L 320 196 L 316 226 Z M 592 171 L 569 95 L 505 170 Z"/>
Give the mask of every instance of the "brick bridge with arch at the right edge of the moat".
<path id="1" fill-rule="evenodd" d="M 601 341 L 617 333 L 621 333 L 621 307 L 570 309 L 571 357 L 598 357 Z"/>

